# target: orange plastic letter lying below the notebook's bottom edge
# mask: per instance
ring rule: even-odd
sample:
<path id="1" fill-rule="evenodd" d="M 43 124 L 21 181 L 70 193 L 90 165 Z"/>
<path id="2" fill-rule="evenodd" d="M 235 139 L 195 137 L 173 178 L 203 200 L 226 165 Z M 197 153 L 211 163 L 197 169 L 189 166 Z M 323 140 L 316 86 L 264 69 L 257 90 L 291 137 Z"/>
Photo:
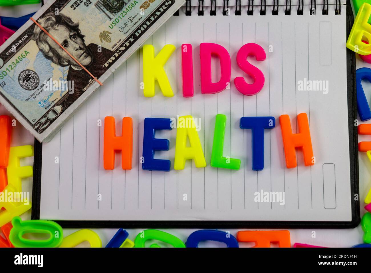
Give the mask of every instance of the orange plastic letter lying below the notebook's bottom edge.
<path id="1" fill-rule="evenodd" d="M 237 232 L 237 241 L 253 242 L 253 247 L 270 247 L 270 243 L 278 243 L 279 247 L 291 247 L 288 230 L 246 230 Z"/>

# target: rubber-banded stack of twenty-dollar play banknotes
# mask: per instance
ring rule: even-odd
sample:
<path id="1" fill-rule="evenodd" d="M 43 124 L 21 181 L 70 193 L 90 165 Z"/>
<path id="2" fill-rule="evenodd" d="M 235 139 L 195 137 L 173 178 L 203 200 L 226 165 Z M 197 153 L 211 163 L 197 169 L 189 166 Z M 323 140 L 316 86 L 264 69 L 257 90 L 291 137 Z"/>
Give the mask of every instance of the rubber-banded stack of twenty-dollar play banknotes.
<path id="1" fill-rule="evenodd" d="M 39 141 L 99 87 L 91 75 L 104 84 L 184 0 L 50 2 L 33 16 L 38 25 L 29 20 L 0 46 L 0 103 Z"/>

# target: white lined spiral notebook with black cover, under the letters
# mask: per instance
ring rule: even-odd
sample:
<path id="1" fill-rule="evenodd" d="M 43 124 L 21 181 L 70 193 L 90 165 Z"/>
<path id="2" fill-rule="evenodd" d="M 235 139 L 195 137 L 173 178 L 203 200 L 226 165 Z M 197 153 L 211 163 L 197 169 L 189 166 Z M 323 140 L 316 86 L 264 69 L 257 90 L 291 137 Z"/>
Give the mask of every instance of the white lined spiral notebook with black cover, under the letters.
<path id="1" fill-rule="evenodd" d="M 64 227 L 357 225 L 355 66 L 354 54 L 345 47 L 352 21 L 349 3 L 339 0 L 188 0 L 146 42 L 154 45 L 155 54 L 166 44 L 176 46 L 165 64 L 174 97 L 164 97 L 158 87 L 154 97 L 144 97 L 142 51 L 134 53 L 51 142 L 36 142 L 33 219 L 55 220 Z M 218 94 L 200 90 L 203 42 L 222 45 L 232 60 L 230 88 Z M 193 46 L 191 98 L 182 95 L 184 43 Z M 265 76 L 263 89 L 252 96 L 242 95 L 233 84 L 240 76 L 252 81 L 236 63 L 236 54 L 246 43 L 257 43 L 266 52 L 265 61 L 248 58 Z M 218 60 L 213 59 L 214 82 L 219 74 Z M 288 114 L 297 133 L 299 113 L 308 116 L 316 162 L 305 166 L 298 150 L 297 167 L 288 169 L 279 116 Z M 227 117 L 223 155 L 240 159 L 239 170 L 210 166 L 217 114 Z M 170 141 L 168 151 L 155 153 L 155 158 L 171 161 L 170 172 L 143 170 L 144 119 L 185 115 L 200 121 L 197 133 L 206 168 L 187 160 L 183 170 L 174 170 L 173 128 L 156 131 L 157 138 Z M 133 119 L 131 170 L 122 170 L 120 153 L 114 170 L 103 168 L 106 116 L 115 117 L 118 135 L 122 118 Z M 276 127 L 264 133 L 260 171 L 252 169 L 251 130 L 239 127 L 244 116 L 276 118 Z"/>

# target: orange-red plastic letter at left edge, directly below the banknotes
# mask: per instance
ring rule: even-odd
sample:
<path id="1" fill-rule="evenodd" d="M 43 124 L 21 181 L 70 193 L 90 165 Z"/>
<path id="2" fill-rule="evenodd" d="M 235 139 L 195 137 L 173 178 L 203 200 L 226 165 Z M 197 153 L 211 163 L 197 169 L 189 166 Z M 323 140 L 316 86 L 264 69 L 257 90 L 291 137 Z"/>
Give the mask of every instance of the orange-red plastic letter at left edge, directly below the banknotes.
<path id="1" fill-rule="evenodd" d="M 0 116 L 0 168 L 8 166 L 10 142 L 12 141 L 12 120 L 9 116 Z"/>

